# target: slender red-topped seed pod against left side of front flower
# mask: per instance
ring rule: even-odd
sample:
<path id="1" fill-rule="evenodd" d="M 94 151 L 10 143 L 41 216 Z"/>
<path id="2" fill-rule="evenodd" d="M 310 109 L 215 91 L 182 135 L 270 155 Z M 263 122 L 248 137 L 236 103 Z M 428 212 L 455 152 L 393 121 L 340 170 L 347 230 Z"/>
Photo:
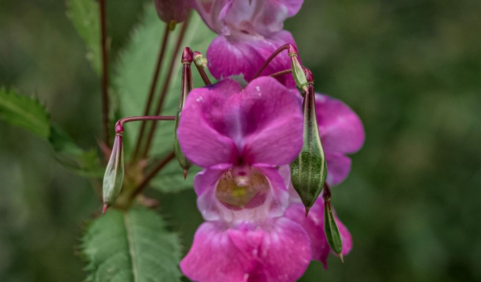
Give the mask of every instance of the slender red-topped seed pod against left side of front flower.
<path id="1" fill-rule="evenodd" d="M 175 118 L 175 130 L 174 130 L 174 153 L 177 158 L 180 167 L 184 170 L 184 178 L 187 177 L 187 171 L 192 167 L 192 163 L 187 160 L 184 153 L 180 149 L 179 140 L 177 138 L 177 128 L 179 127 L 180 116 L 182 109 L 184 108 L 187 94 L 192 90 L 192 50 L 189 47 L 185 47 L 182 53 L 182 85 L 180 87 L 180 100 L 179 107 L 177 108 L 177 115 Z"/>

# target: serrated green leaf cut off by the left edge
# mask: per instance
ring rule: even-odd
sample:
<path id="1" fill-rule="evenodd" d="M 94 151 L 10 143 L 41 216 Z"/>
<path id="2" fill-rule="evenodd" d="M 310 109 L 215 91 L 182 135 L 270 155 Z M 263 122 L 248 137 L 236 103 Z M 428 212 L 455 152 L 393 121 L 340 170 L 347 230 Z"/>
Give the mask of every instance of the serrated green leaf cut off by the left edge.
<path id="1" fill-rule="evenodd" d="M 0 89 L 0 118 L 42 138 L 50 135 L 50 118 L 44 105 L 37 98 L 21 95 L 13 89 Z"/>

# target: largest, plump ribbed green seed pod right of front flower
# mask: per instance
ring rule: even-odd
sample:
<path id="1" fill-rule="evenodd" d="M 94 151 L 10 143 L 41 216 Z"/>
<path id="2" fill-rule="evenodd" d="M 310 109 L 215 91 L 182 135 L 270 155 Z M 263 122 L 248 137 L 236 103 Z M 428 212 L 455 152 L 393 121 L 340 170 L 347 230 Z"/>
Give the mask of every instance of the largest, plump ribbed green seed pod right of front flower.
<path id="1" fill-rule="evenodd" d="M 304 137 L 299 157 L 290 164 L 292 186 L 297 191 L 307 212 L 319 197 L 327 176 L 326 158 L 317 125 L 314 88 L 309 84 L 304 98 Z"/>

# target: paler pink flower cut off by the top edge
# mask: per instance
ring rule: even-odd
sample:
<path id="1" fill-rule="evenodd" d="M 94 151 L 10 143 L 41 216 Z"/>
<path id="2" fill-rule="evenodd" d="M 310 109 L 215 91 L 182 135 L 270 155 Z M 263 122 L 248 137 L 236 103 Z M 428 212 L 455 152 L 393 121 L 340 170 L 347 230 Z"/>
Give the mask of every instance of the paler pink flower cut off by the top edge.
<path id="1" fill-rule="evenodd" d="M 274 50 L 295 45 L 284 20 L 297 14 L 303 0 L 196 0 L 204 22 L 219 36 L 207 50 L 209 70 L 217 79 L 242 73 L 250 81 Z M 262 72 L 268 75 L 290 68 L 282 53 Z M 288 86 L 293 86 L 292 79 Z"/>

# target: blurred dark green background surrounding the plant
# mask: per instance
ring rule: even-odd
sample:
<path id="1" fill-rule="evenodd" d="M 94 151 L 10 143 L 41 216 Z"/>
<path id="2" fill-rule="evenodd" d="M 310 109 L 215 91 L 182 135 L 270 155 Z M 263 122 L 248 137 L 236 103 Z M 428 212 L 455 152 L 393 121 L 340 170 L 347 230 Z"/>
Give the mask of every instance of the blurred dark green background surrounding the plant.
<path id="1" fill-rule="evenodd" d="M 112 52 L 143 4 L 109 1 Z M 317 90 L 349 104 L 367 136 L 333 189 L 354 248 L 301 281 L 481 281 L 480 15 L 480 0 L 306 0 L 285 23 Z M 85 52 L 64 1 L 0 1 L 0 85 L 40 97 L 89 148 L 100 83 Z M 90 183 L 4 122 L 0 180 L 0 281 L 82 281 L 79 238 L 99 210 Z M 151 194 L 186 252 L 202 221 L 194 192 Z"/>

